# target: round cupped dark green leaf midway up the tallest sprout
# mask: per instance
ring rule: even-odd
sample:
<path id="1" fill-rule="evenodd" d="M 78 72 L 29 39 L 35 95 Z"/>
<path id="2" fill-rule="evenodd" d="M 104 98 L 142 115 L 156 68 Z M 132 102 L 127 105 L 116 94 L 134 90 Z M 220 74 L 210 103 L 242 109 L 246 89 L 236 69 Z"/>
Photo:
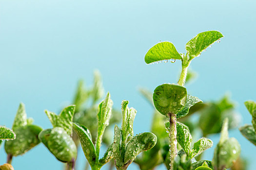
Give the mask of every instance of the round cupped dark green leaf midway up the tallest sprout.
<path id="1" fill-rule="evenodd" d="M 187 90 L 185 87 L 173 84 L 159 85 L 153 94 L 156 109 L 161 114 L 177 114 L 185 105 Z"/>

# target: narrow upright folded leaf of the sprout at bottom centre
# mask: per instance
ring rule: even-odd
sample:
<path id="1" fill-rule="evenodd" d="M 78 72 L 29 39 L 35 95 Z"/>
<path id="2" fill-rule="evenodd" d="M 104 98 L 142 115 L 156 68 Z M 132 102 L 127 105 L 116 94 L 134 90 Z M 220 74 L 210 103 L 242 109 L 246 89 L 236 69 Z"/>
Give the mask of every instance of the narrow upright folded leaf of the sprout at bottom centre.
<path id="1" fill-rule="evenodd" d="M 122 101 L 122 140 L 127 141 L 127 137 L 133 136 L 133 121 L 135 119 L 137 111 L 134 108 L 128 107 L 128 101 Z"/>

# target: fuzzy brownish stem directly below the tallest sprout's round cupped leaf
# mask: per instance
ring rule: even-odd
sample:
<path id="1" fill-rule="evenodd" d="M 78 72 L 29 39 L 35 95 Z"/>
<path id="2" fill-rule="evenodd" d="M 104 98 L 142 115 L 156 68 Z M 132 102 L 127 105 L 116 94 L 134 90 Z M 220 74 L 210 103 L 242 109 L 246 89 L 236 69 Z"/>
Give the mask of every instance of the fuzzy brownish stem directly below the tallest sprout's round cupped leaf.
<path id="1" fill-rule="evenodd" d="M 173 169 L 174 159 L 177 156 L 177 129 L 176 129 L 176 115 L 169 114 L 170 118 L 170 170 Z"/>

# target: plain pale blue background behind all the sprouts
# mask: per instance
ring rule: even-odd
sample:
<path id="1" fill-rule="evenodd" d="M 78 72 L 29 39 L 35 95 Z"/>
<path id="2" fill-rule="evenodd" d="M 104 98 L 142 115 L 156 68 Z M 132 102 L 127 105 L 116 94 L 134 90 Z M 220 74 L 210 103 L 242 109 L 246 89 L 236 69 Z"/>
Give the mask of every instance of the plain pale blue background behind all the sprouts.
<path id="1" fill-rule="evenodd" d="M 250 123 L 243 102 L 256 100 L 255 6 L 255 0 L 0 0 L 0 125 L 11 127 L 24 102 L 28 117 L 50 128 L 44 109 L 58 112 L 69 104 L 77 81 L 91 85 L 98 68 L 115 107 L 126 99 L 138 110 L 135 133 L 149 131 L 152 109 L 138 86 L 153 91 L 176 83 L 180 62 L 146 65 L 145 53 L 159 41 L 171 41 L 185 52 L 188 40 L 209 30 L 225 37 L 192 61 L 198 77 L 187 89 L 203 101 L 229 91 L 241 125 Z M 238 130 L 230 136 L 238 139 L 254 170 L 256 147 Z M 219 136 L 210 137 L 215 147 Z M 206 159 L 212 159 L 214 147 Z M 2 146 L 0 164 L 5 161 Z M 15 157 L 13 165 L 15 170 L 62 168 L 42 144 Z"/>

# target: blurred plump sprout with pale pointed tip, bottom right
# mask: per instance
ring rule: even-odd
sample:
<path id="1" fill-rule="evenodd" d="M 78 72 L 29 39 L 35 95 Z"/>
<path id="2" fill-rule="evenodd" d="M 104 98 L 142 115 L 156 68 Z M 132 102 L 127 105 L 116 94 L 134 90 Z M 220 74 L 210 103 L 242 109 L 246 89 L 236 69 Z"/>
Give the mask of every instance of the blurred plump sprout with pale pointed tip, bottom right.
<path id="1" fill-rule="evenodd" d="M 228 136 L 228 118 L 223 122 L 221 135 L 215 148 L 213 165 L 215 170 L 230 168 L 241 152 L 240 144 L 236 138 Z"/>

